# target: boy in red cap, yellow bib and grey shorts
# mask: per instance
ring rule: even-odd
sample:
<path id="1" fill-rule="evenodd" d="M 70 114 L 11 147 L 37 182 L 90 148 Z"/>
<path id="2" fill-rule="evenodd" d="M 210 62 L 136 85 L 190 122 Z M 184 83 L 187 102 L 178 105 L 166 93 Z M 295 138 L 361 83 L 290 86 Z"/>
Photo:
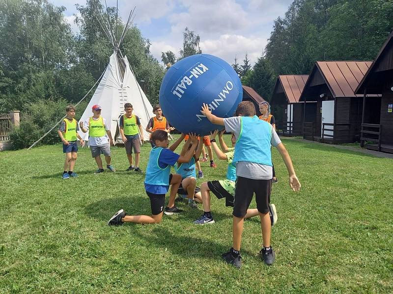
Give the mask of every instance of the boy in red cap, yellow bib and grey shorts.
<path id="1" fill-rule="evenodd" d="M 91 156 L 97 163 L 98 170 L 95 174 L 104 172 L 102 167 L 101 153 L 105 156 L 107 162 L 107 169 L 111 172 L 116 170 L 111 165 L 111 146 L 113 146 L 112 134 L 110 125 L 107 125 L 105 119 L 101 116 L 101 106 L 93 105 L 93 116 L 83 122 L 79 122 L 81 130 L 86 133 L 89 132 L 89 141 Z"/>

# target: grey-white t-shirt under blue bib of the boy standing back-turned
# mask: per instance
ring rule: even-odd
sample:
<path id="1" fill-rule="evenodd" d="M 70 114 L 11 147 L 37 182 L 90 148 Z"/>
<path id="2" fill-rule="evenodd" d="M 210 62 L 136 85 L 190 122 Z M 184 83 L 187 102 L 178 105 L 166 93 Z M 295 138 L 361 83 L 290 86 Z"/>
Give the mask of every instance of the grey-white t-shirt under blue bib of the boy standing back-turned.
<path id="1" fill-rule="evenodd" d="M 227 132 L 233 132 L 235 138 L 239 138 L 241 129 L 240 117 L 224 119 L 224 125 Z M 272 128 L 271 144 L 276 147 L 281 143 L 281 140 L 273 126 L 270 126 Z M 270 180 L 273 177 L 273 168 L 264 164 L 249 161 L 239 161 L 236 163 L 236 175 L 255 180 Z"/>

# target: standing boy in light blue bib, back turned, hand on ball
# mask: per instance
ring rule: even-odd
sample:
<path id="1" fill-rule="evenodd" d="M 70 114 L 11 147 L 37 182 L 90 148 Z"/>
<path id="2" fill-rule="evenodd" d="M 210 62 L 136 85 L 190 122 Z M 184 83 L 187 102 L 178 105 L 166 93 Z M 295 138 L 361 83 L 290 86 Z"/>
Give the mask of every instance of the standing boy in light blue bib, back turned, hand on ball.
<path id="1" fill-rule="evenodd" d="M 263 247 L 259 255 L 267 265 L 272 265 L 275 260 L 275 252 L 270 246 L 269 198 L 273 175 L 270 146 L 275 146 L 281 154 L 288 170 L 291 189 L 299 191 L 301 185 L 293 169 L 291 158 L 272 125 L 259 120 L 255 115 L 256 111 L 253 102 L 240 102 L 236 109 L 236 117 L 227 119 L 213 115 L 206 104 L 202 105 L 201 112 L 211 123 L 224 125 L 225 130 L 233 132 L 237 138 L 232 160 L 236 165 L 237 176 L 232 213 L 233 246 L 222 255 L 222 258 L 236 268 L 242 266 L 240 244 L 243 222 L 255 193 L 263 238 Z"/>

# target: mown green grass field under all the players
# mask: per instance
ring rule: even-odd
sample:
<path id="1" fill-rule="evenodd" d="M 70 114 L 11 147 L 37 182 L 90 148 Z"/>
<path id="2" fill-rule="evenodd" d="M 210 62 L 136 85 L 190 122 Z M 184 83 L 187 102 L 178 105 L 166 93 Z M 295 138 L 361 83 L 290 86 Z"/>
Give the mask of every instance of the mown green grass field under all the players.
<path id="1" fill-rule="evenodd" d="M 60 145 L 1 152 L 0 293 L 393 293 L 393 160 L 283 142 L 302 191 L 289 189 L 274 150 L 276 262 L 258 258 L 260 224 L 251 219 L 240 270 L 220 259 L 231 246 L 232 219 L 215 197 L 213 225 L 192 223 L 201 205 L 180 205 L 184 214 L 160 224 L 107 226 L 120 208 L 150 214 L 144 174 L 124 172 L 122 148 L 112 148 L 117 172 L 99 175 L 80 149 L 79 177 L 69 180 L 61 179 Z M 143 170 L 149 150 L 144 145 Z M 202 168 L 203 181 L 225 177 L 224 161 Z"/>

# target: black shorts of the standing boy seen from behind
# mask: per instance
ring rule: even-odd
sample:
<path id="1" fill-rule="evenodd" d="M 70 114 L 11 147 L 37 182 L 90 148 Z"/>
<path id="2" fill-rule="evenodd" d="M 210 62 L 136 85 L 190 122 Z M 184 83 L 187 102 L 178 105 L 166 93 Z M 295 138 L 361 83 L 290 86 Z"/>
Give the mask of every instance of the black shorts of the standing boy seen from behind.
<path id="1" fill-rule="evenodd" d="M 254 180 L 238 176 L 235 188 L 233 216 L 243 218 L 255 194 L 256 208 L 260 213 L 269 212 L 272 180 Z"/>

